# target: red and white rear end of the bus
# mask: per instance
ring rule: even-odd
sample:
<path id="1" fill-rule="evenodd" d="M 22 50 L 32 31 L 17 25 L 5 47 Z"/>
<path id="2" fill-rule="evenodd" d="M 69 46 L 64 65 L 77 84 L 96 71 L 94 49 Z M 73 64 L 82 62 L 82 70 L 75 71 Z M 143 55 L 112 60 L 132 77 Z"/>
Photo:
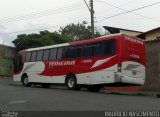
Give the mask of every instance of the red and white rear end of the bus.
<path id="1" fill-rule="evenodd" d="M 120 46 L 118 72 L 120 82 L 144 85 L 145 82 L 145 44 L 144 41 L 129 35 L 123 35 Z"/>

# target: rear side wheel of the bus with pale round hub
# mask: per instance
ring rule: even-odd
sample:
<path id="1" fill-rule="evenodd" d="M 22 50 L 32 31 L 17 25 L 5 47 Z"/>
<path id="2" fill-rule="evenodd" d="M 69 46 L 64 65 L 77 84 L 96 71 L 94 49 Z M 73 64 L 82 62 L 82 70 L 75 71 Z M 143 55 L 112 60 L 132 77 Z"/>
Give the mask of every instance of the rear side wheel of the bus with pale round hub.
<path id="1" fill-rule="evenodd" d="M 80 90 L 81 87 L 77 85 L 77 79 L 75 75 L 69 75 L 66 78 L 66 86 L 69 90 Z"/>

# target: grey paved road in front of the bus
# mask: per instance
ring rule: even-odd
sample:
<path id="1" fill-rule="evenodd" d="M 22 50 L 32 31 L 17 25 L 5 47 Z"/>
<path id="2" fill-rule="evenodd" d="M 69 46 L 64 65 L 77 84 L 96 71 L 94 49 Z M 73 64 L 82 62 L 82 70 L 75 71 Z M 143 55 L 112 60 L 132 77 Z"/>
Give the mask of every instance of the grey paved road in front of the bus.
<path id="1" fill-rule="evenodd" d="M 58 88 L 25 88 L 0 79 L 0 110 L 12 111 L 104 111 L 160 110 L 160 99 L 114 95 Z"/>

